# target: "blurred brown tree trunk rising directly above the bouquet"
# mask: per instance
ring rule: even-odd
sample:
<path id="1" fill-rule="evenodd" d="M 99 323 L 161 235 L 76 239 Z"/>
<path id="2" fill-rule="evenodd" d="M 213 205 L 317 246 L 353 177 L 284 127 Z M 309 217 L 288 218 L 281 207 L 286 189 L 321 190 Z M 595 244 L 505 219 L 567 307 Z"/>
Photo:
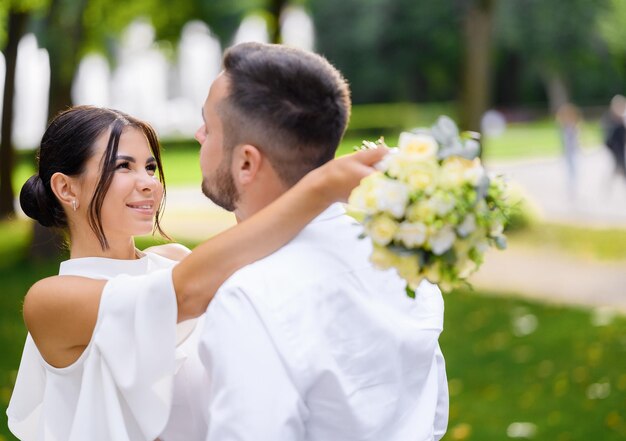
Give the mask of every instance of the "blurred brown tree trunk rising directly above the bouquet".
<path id="1" fill-rule="evenodd" d="M 489 104 L 491 34 L 496 0 L 475 0 L 463 23 L 465 54 L 461 90 L 460 125 L 480 132 L 480 120 Z"/>

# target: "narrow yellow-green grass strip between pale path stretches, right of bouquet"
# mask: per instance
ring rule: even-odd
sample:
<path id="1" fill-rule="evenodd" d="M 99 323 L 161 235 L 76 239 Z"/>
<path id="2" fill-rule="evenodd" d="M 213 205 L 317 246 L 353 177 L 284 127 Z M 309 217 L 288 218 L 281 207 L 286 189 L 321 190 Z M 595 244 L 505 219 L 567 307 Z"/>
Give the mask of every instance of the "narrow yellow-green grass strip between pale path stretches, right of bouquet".
<path id="1" fill-rule="evenodd" d="M 590 229 L 558 224 L 531 224 L 508 233 L 512 244 L 552 249 L 590 260 L 626 260 L 626 229 Z"/>

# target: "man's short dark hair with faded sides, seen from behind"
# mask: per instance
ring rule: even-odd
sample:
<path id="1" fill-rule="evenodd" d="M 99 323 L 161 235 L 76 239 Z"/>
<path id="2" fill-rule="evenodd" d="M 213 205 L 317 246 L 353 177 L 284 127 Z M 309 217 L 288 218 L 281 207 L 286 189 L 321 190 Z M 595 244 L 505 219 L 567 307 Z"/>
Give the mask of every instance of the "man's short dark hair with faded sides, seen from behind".
<path id="1" fill-rule="evenodd" d="M 350 89 L 325 58 L 244 43 L 224 55 L 228 96 L 218 105 L 224 148 L 257 147 L 286 185 L 330 161 L 350 117 Z"/>

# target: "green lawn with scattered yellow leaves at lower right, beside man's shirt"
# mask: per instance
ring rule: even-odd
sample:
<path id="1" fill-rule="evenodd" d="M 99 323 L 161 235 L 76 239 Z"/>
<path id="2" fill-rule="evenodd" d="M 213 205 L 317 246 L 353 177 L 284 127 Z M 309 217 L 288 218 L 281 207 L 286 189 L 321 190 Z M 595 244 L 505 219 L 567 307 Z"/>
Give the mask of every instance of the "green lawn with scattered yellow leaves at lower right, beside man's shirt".
<path id="1" fill-rule="evenodd" d="M 458 292 L 445 320 L 444 439 L 500 441 L 515 422 L 534 440 L 625 439 L 626 317 L 594 326 L 587 311 Z"/>

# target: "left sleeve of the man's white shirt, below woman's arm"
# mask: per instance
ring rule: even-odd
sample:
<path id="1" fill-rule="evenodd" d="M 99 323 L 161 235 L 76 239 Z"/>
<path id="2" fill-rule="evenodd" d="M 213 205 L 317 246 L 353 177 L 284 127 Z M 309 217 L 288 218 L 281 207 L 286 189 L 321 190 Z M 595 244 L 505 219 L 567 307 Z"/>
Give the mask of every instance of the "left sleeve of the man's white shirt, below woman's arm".
<path id="1" fill-rule="evenodd" d="M 304 439 L 304 402 L 241 289 L 224 289 L 211 302 L 199 352 L 210 384 L 206 441 Z"/>

